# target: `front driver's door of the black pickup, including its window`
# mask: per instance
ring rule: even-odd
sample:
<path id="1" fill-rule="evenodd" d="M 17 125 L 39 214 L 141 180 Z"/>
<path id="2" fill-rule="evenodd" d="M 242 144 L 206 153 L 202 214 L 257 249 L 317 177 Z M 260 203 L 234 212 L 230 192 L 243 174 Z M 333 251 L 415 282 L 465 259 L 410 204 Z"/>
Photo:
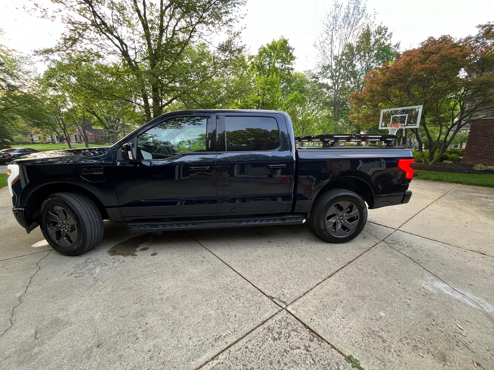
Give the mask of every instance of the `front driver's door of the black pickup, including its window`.
<path id="1" fill-rule="evenodd" d="M 183 114 L 133 139 L 133 161 L 114 166 L 125 220 L 216 216 L 216 116 Z"/>

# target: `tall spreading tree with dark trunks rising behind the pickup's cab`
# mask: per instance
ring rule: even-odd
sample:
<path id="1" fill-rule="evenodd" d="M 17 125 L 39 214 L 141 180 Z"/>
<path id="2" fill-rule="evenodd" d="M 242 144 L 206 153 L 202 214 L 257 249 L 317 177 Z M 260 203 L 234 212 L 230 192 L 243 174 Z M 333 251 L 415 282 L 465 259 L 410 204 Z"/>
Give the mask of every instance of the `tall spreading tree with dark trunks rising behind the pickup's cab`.
<path id="1" fill-rule="evenodd" d="M 63 55 L 88 48 L 119 58 L 132 80 L 131 103 L 150 120 L 179 99 L 193 102 L 189 98 L 197 96 L 198 85 L 210 82 L 194 73 L 204 61 L 204 53 L 195 49 L 199 42 L 210 43 L 221 30 L 229 38 L 210 52 L 216 65 L 235 54 L 234 26 L 245 0 L 53 2 L 60 5 L 67 32 L 56 48 L 44 52 Z"/>

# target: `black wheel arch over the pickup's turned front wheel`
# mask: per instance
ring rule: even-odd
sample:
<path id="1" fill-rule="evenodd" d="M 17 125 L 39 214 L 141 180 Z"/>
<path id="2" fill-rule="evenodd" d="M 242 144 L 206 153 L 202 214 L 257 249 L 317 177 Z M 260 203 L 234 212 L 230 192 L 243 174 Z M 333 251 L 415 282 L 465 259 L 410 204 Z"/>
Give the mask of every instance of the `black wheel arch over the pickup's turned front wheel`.
<path id="1" fill-rule="evenodd" d="M 31 221 L 37 220 L 39 218 L 41 204 L 46 199 L 46 197 L 50 194 L 61 192 L 77 192 L 86 195 L 94 202 L 94 204 L 96 204 L 99 212 L 101 213 L 101 216 L 103 217 L 103 220 L 109 219 L 108 212 L 105 206 L 96 195 L 80 185 L 70 183 L 51 183 L 41 185 L 40 187 L 36 188 L 36 190 L 34 190 L 30 194 L 26 202 L 26 219 Z"/>

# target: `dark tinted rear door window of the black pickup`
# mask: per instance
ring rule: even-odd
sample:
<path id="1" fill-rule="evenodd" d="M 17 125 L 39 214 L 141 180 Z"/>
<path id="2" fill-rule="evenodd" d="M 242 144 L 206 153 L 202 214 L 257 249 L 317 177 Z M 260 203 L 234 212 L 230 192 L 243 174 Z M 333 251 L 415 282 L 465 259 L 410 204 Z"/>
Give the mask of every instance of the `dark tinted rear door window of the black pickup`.
<path id="1" fill-rule="evenodd" d="M 280 146 L 280 132 L 272 117 L 225 117 L 226 150 L 273 150 Z"/>

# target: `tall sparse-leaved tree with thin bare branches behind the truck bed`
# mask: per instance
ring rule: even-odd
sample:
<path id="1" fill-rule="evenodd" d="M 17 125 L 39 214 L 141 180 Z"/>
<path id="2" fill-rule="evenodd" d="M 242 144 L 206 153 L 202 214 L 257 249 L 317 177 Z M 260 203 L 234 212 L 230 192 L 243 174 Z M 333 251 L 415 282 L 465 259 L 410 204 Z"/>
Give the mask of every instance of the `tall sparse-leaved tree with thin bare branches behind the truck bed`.
<path id="1" fill-rule="evenodd" d="M 327 81 L 335 132 L 360 133 L 360 127 L 352 126 L 348 117 L 348 96 L 363 88 L 371 70 L 393 57 L 399 43 L 392 44 L 391 37 L 387 27 L 374 24 L 365 1 L 351 0 L 345 8 L 339 0 L 333 2 L 315 47 L 319 51 L 318 75 Z"/>

